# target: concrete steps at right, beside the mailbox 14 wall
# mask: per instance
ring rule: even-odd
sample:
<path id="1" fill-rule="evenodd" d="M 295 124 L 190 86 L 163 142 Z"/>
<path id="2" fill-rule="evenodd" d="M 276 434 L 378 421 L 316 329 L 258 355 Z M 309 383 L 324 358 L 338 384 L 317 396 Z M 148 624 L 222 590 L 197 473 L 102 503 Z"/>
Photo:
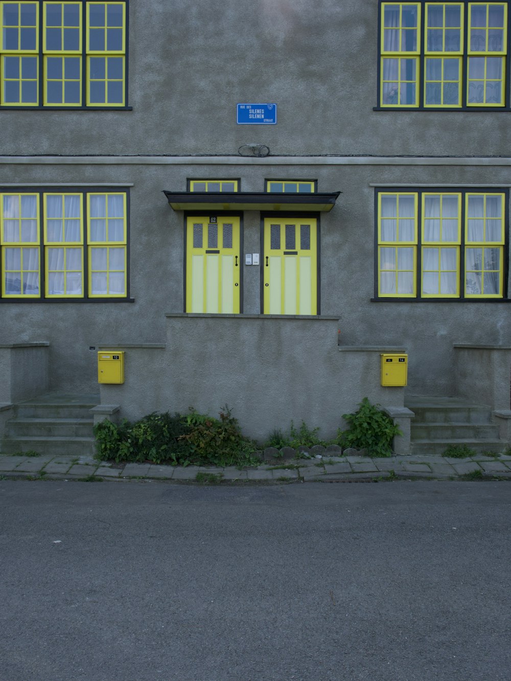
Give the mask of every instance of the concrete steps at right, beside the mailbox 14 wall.
<path id="1" fill-rule="evenodd" d="M 411 397 L 406 407 L 415 414 L 410 437 L 411 454 L 416 456 L 442 456 L 452 445 L 465 445 L 478 454 L 497 454 L 508 447 L 492 422 L 491 407 L 449 397 Z"/>

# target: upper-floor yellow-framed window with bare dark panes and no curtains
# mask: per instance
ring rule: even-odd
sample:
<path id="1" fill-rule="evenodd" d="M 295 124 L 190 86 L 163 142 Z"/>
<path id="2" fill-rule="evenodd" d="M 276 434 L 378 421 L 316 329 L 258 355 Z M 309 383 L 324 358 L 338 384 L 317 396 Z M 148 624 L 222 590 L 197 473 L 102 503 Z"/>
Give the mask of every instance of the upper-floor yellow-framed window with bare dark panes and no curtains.
<path id="1" fill-rule="evenodd" d="M 0 106 L 126 106 L 124 1 L 5 0 L 0 23 Z"/>

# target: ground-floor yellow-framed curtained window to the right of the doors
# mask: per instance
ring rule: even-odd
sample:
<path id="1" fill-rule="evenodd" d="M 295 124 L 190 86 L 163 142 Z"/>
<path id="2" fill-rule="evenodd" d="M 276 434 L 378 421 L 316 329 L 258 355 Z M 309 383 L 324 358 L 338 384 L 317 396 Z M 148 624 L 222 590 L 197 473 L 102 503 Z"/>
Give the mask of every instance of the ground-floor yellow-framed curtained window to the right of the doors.
<path id="1" fill-rule="evenodd" d="M 377 190 L 380 298 L 504 298 L 508 190 Z"/>

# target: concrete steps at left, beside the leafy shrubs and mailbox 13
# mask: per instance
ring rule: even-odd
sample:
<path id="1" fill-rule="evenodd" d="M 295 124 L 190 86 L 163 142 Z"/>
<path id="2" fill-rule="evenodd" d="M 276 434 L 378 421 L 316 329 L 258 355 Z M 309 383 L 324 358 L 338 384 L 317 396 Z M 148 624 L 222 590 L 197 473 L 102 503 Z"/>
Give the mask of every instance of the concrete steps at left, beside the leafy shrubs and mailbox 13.
<path id="1" fill-rule="evenodd" d="M 48 394 L 14 405 L 0 443 L 2 454 L 93 456 L 93 417 L 90 409 L 99 396 Z"/>

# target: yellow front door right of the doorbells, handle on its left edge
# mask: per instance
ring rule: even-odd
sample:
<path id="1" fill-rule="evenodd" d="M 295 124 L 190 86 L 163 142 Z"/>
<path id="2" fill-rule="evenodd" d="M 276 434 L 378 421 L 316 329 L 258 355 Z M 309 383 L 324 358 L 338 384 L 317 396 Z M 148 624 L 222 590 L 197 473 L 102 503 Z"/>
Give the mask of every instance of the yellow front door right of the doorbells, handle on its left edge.
<path id="1" fill-rule="evenodd" d="M 318 220 L 265 218 L 265 315 L 318 314 Z"/>

